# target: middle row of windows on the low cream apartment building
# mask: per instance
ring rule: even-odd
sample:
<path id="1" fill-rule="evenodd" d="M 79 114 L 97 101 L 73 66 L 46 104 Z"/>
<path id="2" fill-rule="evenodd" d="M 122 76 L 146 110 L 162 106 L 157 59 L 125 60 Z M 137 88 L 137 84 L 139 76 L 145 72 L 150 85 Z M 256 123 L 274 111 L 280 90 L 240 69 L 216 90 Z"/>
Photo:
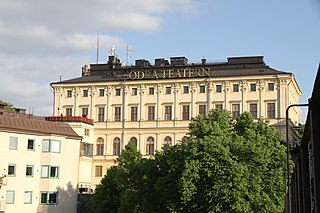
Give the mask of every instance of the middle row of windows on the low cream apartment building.
<path id="1" fill-rule="evenodd" d="M 16 176 L 17 165 L 10 163 L 8 164 L 8 177 Z M 26 177 L 34 176 L 34 166 L 26 165 L 25 170 Z M 41 166 L 41 178 L 59 178 L 59 166 L 42 165 Z"/>

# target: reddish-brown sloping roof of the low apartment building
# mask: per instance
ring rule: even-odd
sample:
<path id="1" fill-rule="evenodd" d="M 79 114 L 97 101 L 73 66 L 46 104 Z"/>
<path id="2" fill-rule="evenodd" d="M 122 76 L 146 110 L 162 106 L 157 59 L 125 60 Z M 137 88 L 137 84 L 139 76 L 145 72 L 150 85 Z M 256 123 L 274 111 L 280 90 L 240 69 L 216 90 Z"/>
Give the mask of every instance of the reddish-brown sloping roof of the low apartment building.
<path id="1" fill-rule="evenodd" d="M 67 123 L 49 122 L 25 116 L 0 115 L 0 131 L 82 138 Z"/>

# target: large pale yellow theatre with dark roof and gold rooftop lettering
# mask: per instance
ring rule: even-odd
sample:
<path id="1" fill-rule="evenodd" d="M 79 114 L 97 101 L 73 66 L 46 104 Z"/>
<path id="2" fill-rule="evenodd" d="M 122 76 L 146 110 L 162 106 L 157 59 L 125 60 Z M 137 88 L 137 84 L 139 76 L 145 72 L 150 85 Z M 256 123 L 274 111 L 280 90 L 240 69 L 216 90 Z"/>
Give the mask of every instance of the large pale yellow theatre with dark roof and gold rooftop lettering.
<path id="1" fill-rule="evenodd" d="M 213 108 L 227 109 L 233 117 L 248 111 L 270 124 L 283 123 L 286 108 L 301 96 L 294 75 L 270 68 L 262 56 L 219 63 L 202 59 L 199 64 L 185 57 L 156 59 L 154 65 L 141 59 L 134 66 L 122 66 L 109 56 L 106 64 L 84 66 L 81 77 L 51 86 L 54 116 L 94 120 L 87 138 L 93 150 L 87 162 L 92 160 L 92 165 L 80 166 L 92 171 L 93 185 L 128 142 L 152 156 L 164 144 L 184 140 L 190 119 Z M 290 118 L 298 124 L 297 109 L 290 110 Z M 90 179 L 81 174 L 83 182 Z"/>

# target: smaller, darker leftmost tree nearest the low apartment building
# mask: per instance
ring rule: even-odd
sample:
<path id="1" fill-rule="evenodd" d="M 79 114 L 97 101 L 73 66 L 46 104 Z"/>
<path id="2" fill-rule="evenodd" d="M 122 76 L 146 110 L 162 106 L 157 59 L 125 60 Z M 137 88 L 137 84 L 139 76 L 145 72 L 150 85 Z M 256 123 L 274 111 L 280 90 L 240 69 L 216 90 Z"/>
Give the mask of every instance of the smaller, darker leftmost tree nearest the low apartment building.
<path id="1" fill-rule="evenodd" d="M 154 160 L 142 158 L 137 147 L 125 146 L 116 160 L 118 166 L 107 170 L 89 202 L 91 212 L 157 212 L 153 184 L 157 177 Z"/>

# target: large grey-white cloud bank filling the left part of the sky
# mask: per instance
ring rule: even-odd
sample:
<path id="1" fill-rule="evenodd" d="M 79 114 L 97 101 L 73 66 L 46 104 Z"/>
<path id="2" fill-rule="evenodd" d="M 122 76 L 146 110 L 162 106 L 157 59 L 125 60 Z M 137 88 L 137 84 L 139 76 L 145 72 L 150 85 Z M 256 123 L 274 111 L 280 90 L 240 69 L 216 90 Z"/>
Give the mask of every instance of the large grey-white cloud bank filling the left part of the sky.
<path id="1" fill-rule="evenodd" d="M 0 0 L 0 100 L 52 113 L 49 84 L 79 77 L 84 64 L 106 61 L 116 31 L 152 33 L 165 14 L 192 10 L 191 0 Z M 121 56 L 120 56 L 121 58 Z"/>

